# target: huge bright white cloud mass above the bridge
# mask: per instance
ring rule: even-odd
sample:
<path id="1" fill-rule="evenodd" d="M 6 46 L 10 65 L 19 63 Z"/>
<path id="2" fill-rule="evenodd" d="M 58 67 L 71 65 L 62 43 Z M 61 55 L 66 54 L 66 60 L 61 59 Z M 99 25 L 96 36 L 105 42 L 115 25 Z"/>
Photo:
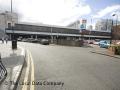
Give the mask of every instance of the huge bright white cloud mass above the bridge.
<path id="1" fill-rule="evenodd" d="M 91 12 L 83 0 L 13 0 L 13 8 L 21 14 L 21 21 L 63 26 Z"/>

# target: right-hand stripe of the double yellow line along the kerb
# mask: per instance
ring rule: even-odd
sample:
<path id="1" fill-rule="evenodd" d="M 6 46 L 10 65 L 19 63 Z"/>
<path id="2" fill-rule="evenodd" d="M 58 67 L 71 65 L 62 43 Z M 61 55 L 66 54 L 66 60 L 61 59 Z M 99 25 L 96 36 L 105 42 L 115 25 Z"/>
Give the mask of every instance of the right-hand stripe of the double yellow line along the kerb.
<path id="1" fill-rule="evenodd" d="M 33 58 L 32 58 L 32 55 L 31 55 L 31 52 L 30 53 L 30 60 L 31 60 L 31 83 L 32 81 L 35 81 L 35 76 L 34 76 L 34 62 L 33 62 Z M 34 90 L 35 87 L 34 85 L 30 85 L 30 90 Z"/>

